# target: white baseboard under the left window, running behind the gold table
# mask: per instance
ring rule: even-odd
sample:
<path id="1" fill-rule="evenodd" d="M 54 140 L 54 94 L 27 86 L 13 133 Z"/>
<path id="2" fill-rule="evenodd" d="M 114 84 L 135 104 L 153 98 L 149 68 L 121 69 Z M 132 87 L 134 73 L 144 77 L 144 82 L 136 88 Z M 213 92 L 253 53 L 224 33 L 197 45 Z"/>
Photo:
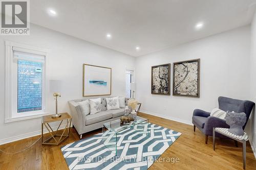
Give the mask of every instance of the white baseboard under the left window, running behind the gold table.
<path id="1" fill-rule="evenodd" d="M 71 124 L 71 127 L 73 125 Z M 59 130 L 60 129 L 64 129 L 66 127 L 66 125 L 61 125 L 59 127 Z M 56 127 L 53 127 L 52 130 L 53 131 L 56 131 L 57 130 L 57 126 Z M 0 140 L 0 145 L 1 144 L 5 144 L 5 143 L 10 143 L 10 142 L 13 142 L 13 141 L 17 141 L 17 140 L 21 140 L 21 139 L 26 139 L 26 138 L 29 138 L 29 137 L 33 137 L 33 136 L 37 136 L 37 135 L 40 135 L 42 132 L 41 130 L 39 131 L 35 131 L 35 132 L 30 132 L 30 133 L 26 133 L 26 134 L 23 134 L 23 135 L 18 135 L 18 136 L 13 136 L 13 137 L 9 137 L 9 138 L 6 138 L 6 139 L 1 139 Z M 47 129 L 44 129 L 44 134 L 45 133 L 49 133 Z"/>

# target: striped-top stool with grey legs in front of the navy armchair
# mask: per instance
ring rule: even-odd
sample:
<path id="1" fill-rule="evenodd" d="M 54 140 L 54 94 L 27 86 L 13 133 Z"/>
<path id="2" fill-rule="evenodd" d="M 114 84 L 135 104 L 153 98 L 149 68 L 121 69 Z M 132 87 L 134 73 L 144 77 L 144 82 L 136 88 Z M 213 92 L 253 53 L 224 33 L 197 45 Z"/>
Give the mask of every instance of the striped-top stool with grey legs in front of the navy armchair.
<path id="1" fill-rule="evenodd" d="M 245 169 L 245 163 L 246 163 L 246 141 L 248 140 L 248 135 L 244 132 L 244 135 L 235 135 L 233 133 L 228 132 L 227 128 L 214 128 L 213 131 L 213 139 L 214 139 L 214 151 L 215 151 L 215 132 L 218 132 L 224 136 L 227 136 L 231 139 L 234 139 L 236 141 L 239 141 L 243 143 L 243 168 Z"/>

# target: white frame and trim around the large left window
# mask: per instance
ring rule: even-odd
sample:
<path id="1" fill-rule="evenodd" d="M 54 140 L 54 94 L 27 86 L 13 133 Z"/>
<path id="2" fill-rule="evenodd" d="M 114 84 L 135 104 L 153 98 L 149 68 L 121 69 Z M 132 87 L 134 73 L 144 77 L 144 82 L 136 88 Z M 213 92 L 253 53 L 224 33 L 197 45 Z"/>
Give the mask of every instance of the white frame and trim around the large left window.
<path id="1" fill-rule="evenodd" d="M 6 63 L 5 63 L 5 123 L 16 122 L 31 118 L 38 118 L 47 114 L 46 95 L 48 94 L 48 50 L 27 44 L 5 41 Z M 21 112 L 17 114 L 17 63 L 14 62 L 15 51 L 45 56 L 45 63 L 42 72 L 42 109 L 37 111 Z"/>

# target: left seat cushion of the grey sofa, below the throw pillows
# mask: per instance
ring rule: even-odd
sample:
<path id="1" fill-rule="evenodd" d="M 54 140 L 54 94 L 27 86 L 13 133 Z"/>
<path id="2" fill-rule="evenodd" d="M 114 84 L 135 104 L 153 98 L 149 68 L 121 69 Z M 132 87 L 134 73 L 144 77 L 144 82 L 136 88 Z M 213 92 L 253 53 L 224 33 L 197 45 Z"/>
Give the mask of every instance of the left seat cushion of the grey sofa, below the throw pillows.
<path id="1" fill-rule="evenodd" d="M 102 122 L 103 120 L 107 120 L 110 118 L 112 118 L 111 111 L 101 111 L 95 114 L 89 114 L 86 116 L 86 125 Z"/>

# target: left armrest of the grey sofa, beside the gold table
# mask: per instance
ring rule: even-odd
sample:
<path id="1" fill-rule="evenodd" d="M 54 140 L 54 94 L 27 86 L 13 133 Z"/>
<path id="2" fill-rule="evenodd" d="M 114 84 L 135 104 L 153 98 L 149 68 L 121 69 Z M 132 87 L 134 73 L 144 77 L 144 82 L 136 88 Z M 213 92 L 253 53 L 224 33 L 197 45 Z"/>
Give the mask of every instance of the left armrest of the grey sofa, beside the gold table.
<path id="1" fill-rule="evenodd" d="M 86 116 L 81 113 L 79 104 L 74 101 L 69 101 L 69 106 L 72 115 L 72 124 L 75 126 L 77 132 L 82 134 L 83 125 L 86 125 Z"/>

